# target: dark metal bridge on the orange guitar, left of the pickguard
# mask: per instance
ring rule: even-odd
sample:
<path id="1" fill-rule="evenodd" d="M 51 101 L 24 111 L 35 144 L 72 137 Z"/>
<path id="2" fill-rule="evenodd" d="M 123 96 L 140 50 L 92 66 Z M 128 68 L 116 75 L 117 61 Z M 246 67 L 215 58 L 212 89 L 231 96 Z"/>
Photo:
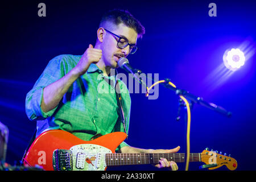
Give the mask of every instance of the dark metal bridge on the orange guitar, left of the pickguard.
<path id="1" fill-rule="evenodd" d="M 55 171 L 72 171 L 72 152 L 70 150 L 56 149 L 53 151 L 52 164 Z"/>

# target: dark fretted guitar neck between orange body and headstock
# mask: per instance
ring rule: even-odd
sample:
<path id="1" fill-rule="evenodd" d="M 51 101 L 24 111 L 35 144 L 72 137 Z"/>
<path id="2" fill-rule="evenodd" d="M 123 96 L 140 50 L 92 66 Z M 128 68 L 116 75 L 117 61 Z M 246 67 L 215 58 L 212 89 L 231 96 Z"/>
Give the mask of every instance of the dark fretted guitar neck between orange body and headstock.
<path id="1" fill-rule="evenodd" d="M 168 161 L 176 163 L 185 162 L 184 153 L 142 153 L 142 154 L 106 154 L 107 166 L 123 166 L 123 165 L 137 165 L 137 164 L 158 164 L 160 158 L 166 158 Z M 201 153 L 191 153 L 189 162 L 201 162 Z"/>

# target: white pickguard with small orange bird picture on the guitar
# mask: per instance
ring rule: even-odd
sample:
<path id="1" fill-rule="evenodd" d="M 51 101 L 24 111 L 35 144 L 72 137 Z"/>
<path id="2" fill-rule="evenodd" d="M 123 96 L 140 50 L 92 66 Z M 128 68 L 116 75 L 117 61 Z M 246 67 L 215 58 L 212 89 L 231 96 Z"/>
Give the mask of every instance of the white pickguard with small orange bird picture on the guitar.
<path id="1" fill-rule="evenodd" d="M 104 171 L 105 154 L 112 153 L 108 148 L 97 144 L 78 144 L 71 147 L 73 171 Z"/>

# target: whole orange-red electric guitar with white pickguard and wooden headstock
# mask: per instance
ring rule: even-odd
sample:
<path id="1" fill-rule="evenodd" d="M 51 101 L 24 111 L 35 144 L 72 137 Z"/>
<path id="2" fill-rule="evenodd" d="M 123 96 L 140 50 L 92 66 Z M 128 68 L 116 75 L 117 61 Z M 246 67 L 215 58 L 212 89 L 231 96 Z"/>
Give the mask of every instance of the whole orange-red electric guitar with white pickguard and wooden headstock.
<path id="1" fill-rule="evenodd" d="M 125 133 L 115 132 L 84 141 L 67 131 L 49 130 L 34 140 L 23 162 L 31 167 L 42 166 L 47 171 L 102 171 L 106 170 L 107 166 L 158 164 L 160 158 L 176 163 L 185 162 L 186 154 L 181 153 L 115 153 L 115 148 L 125 138 Z M 237 168 L 235 159 L 208 150 L 191 153 L 189 161 L 205 163 L 201 168 L 216 169 L 224 165 L 230 170 Z"/>

